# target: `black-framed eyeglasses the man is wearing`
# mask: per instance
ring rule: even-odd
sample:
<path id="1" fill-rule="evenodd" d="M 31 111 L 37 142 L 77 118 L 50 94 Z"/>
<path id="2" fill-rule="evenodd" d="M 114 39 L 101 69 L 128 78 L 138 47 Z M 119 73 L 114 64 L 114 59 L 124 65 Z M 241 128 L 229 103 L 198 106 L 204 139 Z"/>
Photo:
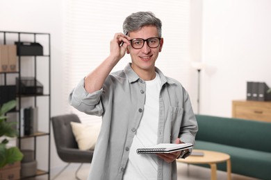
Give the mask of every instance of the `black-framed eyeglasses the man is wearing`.
<path id="1" fill-rule="evenodd" d="M 136 49 L 140 49 L 144 46 L 145 42 L 150 48 L 157 48 L 160 44 L 161 37 L 149 37 L 148 39 L 135 38 L 131 39 L 131 46 Z"/>

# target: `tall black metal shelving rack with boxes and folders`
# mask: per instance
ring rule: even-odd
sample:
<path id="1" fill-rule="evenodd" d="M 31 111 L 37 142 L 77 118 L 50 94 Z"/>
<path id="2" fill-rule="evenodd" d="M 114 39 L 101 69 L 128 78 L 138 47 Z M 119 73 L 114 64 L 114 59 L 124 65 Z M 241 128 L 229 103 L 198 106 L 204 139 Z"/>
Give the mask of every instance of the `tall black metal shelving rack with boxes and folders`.
<path id="1" fill-rule="evenodd" d="M 19 52 L 18 46 L 14 44 L 20 44 L 22 42 L 28 42 L 29 44 L 40 44 L 42 46 L 42 53 L 39 53 L 37 49 L 32 49 L 32 53 Z M 13 32 L 13 31 L 0 31 L 0 44 L 1 46 L 13 46 L 15 47 L 16 54 L 7 55 L 1 51 L 1 67 L 3 63 L 13 63 L 10 69 L 0 70 L 0 87 L 1 92 L 3 89 L 5 95 L 1 94 L 0 100 L 10 97 L 15 97 L 17 100 L 17 107 L 8 114 L 11 114 L 15 121 L 17 121 L 17 128 L 19 136 L 17 138 L 17 145 L 20 150 L 26 150 L 33 152 L 33 159 L 37 164 L 37 170 L 34 170 L 35 174 L 31 174 L 28 177 L 21 177 L 21 179 L 28 179 L 29 177 L 47 176 L 50 179 L 50 118 L 51 118 L 51 37 L 49 33 L 27 33 L 27 32 Z M 13 45 L 12 45 L 13 44 Z M 9 53 L 9 51 L 8 51 Z M 9 58 L 7 60 L 7 58 Z M 10 60 L 10 58 L 12 60 Z M 12 67 L 12 68 L 11 68 Z M 31 85 L 33 89 L 38 89 L 38 82 L 42 84 L 41 91 L 22 91 L 22 82 L 24 78 L 33 79 L 34 83 Z M 35 80 L 38 80 L 35 81 Z M 8 89 L 8 90 L 7 90 Z M 22 119 L 22 109 L 31 107 L 38 109 L 37 116 L 33 116 L 33 122 L 37 125 L 37 129 L 30 134 L 25 135 L 22 133 L 24 122 Z M 25 118 L 25 117 L 24 117 Z M 10 118 L 8 118 L 10 119 Z M 24 131 L 25 132 L 25 131 Z M 21 166 L 22 168 L 22 166 Z M 22 175 L 22 174 L 21 174 Z"/>

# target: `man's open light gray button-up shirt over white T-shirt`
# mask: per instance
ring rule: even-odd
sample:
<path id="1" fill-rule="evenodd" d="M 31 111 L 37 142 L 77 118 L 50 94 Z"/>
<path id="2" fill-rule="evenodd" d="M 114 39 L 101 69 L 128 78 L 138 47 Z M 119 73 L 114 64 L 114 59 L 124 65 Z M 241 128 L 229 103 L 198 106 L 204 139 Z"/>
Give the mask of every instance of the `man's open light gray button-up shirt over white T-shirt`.
<path id="1" fill-rule="evenodd" d="M 161 77 L 157 143 L 174 143 L 181 138 L 195 145 L 197 120 L 187 91 L 159 69 L 156 72 Z M 110 73 L 101 90 L 88 93 L 81 80 L 70 93 L 70 105 L 86 114 L 102 116 L 88 179 L 122 179 L 133 136 L 144 112 L 145 91 L 145 81 L 128 64 L 124 70 Z M 176 180 L 176 161 L 166 163 L 158 159 L 157 177 Z"/>

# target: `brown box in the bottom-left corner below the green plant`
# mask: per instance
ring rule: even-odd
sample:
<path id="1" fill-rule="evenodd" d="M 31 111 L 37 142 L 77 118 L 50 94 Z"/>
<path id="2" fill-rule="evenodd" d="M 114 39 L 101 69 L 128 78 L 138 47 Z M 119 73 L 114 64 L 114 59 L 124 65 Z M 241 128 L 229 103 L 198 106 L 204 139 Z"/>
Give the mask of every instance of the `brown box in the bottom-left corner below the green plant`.
<path id="1" fill-rule="evenodd" d="M 20 170 L 21 170 L 21 163 L 18 161 L 16 163 L 10 163 L 0 169 L 0 179 L 8 179 L 8 180 L 15 180 L 20 179 Z"/>

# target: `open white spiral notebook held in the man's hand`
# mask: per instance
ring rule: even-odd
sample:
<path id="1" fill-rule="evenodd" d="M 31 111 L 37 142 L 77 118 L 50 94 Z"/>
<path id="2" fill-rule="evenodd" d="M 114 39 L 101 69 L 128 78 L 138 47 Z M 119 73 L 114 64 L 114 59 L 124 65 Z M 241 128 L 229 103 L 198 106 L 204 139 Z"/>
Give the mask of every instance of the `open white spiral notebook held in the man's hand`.
<path id="1" fill-rule="evenodd" d="M 153 147 L 138 148 L 136 152 L 138 154 L 154 154 L 154 153 L 170 153 L 180 150 L 187 150 L 192 148 L 191 143 L 182 143 L 182 144 L 171 144 L 171 143 L 161 143 L 154 145 Z"/>

